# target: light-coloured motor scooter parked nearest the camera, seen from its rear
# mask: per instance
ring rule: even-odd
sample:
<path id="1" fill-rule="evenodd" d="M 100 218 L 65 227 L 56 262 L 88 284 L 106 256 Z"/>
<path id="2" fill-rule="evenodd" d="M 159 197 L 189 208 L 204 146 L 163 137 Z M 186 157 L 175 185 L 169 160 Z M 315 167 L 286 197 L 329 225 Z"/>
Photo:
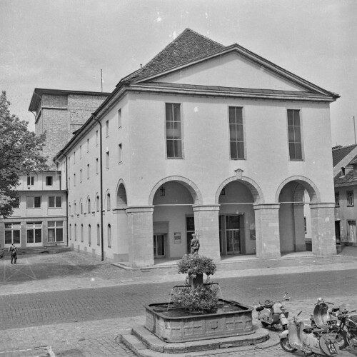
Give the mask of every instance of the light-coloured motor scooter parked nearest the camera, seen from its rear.
<path id="1" fill-rule="evenodd" d="M 340 349 L 336 333 L 321 328 L 313 328 L 298 321 L 298 316 L 288 323 L 288 330 L 280 334 L 280 345 L 286 352 L 301 351 L 311 356 L 337 356 Z"/>

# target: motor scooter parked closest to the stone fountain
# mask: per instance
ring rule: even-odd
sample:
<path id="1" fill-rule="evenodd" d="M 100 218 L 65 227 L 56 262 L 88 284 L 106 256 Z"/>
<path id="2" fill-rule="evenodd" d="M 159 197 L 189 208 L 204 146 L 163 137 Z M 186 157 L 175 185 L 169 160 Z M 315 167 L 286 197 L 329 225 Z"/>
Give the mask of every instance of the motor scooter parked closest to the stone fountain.
<path id="1" fill-rule="evenodd" d="M 275 328 L 276 325 L 280 324 L 283 330 L 288 328 L 288 311 L 286 311 L 285 306 L 281 303 L 281 301 L 290 300 L 290 298 L 286 297 L 287 295 L 288 293 L 284 293 L 281 300 L 266 300 L 263 304 L 259 303 L 256 306 L 258 320 L 261 321 L 263 327 L 270 326 L 271 328 Z"/>

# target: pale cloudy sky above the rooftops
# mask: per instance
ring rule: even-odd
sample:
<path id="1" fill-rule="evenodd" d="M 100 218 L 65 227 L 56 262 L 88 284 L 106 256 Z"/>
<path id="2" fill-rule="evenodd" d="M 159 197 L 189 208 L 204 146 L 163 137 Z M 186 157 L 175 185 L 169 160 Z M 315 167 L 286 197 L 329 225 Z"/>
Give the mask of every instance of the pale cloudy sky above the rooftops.
<path id="1" fill-rule="evenodd" d="M 332 146 L 355 143 L 357 0 L 0 0 L 0 90 L 29 121 L 35 88 L 113 91 L 190 28 L 341 96 Z"/>

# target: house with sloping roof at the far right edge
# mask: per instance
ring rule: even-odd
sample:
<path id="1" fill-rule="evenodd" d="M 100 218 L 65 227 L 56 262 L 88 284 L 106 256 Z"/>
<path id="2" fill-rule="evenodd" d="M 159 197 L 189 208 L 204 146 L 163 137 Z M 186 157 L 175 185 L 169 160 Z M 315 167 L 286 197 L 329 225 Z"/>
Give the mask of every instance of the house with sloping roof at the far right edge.
<path id="1" fill-rule="evenodd" d="M 335 146 L 333 154 L 333 176 L 335 183 L 335 227 L 336 241 L 357 246 L 357 145 Z"/>

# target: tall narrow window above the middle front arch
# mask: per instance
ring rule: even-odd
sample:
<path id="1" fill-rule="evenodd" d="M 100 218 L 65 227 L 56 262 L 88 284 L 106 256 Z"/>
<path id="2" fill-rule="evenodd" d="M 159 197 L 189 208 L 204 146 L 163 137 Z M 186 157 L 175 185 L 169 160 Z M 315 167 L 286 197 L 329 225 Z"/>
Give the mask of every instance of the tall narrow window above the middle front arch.
<path id="1" fill-rule="evenodd" d="M 228 111 L 231 159 L 244 159 L 243 108 L 230 106 Z"/>

